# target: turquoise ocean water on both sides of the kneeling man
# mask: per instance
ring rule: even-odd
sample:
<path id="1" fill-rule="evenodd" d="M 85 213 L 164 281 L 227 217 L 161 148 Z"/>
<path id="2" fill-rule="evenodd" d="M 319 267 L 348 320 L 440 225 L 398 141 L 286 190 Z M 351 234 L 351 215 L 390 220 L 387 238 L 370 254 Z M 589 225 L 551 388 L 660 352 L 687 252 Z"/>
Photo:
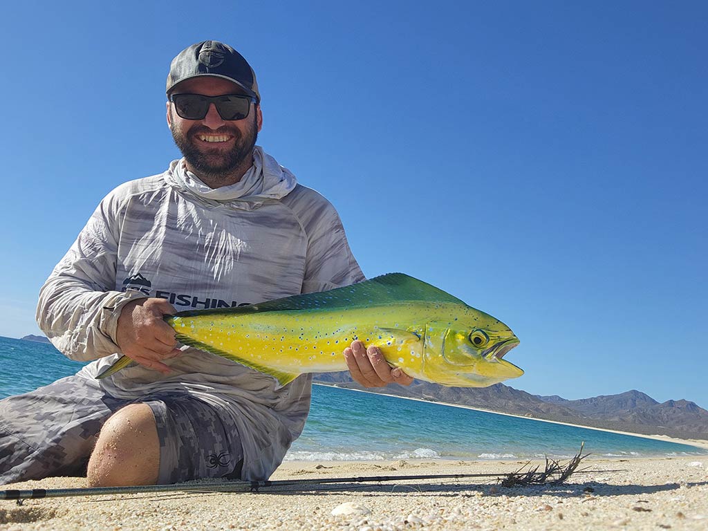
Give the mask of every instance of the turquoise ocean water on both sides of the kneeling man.
<path id="1" fill-rule="evenodd" d="M 53 346 L 0 337 L 0 398 L 71 375 L 83 364 Z M 428 401 L 316 385 L 286 460 L 568 458 L 708 455 L 700 447 L 535 421 Z"/>

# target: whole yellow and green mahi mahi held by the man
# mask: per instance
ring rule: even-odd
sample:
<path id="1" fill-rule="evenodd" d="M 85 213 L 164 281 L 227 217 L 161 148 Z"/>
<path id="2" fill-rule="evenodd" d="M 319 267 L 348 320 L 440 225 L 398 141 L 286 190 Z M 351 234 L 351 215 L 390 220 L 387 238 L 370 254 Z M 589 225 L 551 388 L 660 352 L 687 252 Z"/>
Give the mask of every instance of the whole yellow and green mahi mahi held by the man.
<path id="1" fill-rule="evenodd" d="M 346 370 L 342 351 L 355 340 L 377 346 L 407 375 L 448 387 L 486 387 L 523 375 L 503 359 L 519 344 L 506 324 L 403 273 L 164 319 L 177 341 L 271 375 L 278 387 L 306 372 Z M 123 356 L 98 378 L 131 361 Z"/>

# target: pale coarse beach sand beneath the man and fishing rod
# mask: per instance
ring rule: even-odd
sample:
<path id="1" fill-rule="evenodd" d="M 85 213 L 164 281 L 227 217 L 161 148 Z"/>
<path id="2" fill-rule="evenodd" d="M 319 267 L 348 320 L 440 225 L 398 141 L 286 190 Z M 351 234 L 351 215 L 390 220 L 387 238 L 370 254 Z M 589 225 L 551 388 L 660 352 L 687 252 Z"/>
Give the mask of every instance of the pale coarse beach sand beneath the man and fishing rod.
<path id="1" fill-rule="evenodd" d="M 271 479 L 506 474 L 524 463 L 286 462 Z M 590 456 L 581 468 L 585 472 L 557 486 L 418 480 L 269 493 L 45 498 L 22 506 L 0 501 L 0 530 L 708 530 L 708 456 Z M 48 478 L 12 488 L 83 486 L 82 478 Z"/>

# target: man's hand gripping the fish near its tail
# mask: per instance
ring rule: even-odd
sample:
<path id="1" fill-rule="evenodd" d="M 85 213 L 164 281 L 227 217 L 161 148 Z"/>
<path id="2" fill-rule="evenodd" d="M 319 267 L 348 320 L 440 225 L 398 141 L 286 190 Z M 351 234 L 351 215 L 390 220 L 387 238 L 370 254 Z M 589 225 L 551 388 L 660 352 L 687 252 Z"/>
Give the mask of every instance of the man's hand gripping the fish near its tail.
<path id="1" fill-rule="evenodd" d="M 174 313 L 165 299 L 137 299 L 125 304 L 115 329 L 120 351 L 140 365 L 168 374 L 170 367 L 160 360 L 174 358 L 181 351 L 175 348 L 175 331 L 162 317 Z"/>

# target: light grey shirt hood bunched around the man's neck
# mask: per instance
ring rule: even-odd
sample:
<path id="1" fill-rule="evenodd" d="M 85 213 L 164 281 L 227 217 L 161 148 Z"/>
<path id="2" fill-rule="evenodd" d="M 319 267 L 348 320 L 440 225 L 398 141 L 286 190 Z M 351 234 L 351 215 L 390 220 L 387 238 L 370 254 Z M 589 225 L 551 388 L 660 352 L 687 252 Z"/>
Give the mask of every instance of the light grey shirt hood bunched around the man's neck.
<path id="1" fill-rule="evenodd" d="M 185 166 L 185 159 L 172 161 L 164 173 L 165 180 L 177 190 L 213 206 L 229 206 L 253 210 L 268 200 L 279 200 L 295 188 L 297 179 L 272 156 L 256 146 L 253 166 L 238 183 L 210 188 Z"/>

